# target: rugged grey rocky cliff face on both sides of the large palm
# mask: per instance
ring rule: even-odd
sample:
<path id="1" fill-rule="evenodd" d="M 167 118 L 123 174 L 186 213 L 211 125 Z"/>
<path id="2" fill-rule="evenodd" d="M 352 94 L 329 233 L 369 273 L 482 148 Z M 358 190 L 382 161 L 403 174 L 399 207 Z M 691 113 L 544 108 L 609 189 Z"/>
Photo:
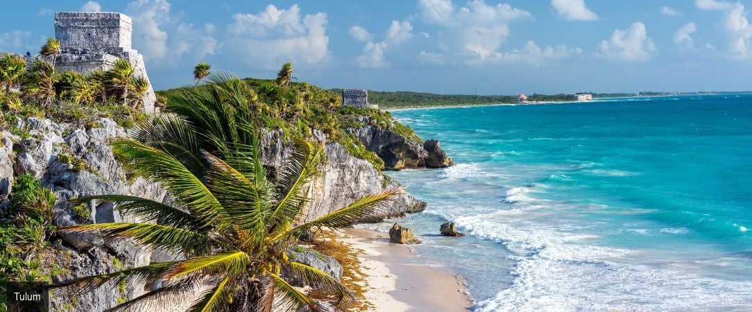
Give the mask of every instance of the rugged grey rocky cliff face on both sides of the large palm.
<path id="1" fill-rule="evenodd" d="M 129 180 L 120 167 L 108 141 L 126 132 L 112 120 L 101 119 L 90 129 L 50 120 L 29 118 L 17 120 L 17 127 L 25 133 L 23 138 L 9 132 L 0 134 L 0 210 L 7 205 L 14 177 L 32 174 L 41 179 L 41 185 L 55 192 L 56 226 L 73 226 L 80 223 L 134 222 L 132 216 L 123 216 L 112 204 L 90 202 L 85 214 L 74 212 L 68 199 L 84 195 L 123 194 L 137 195 L 156 201 L 170 200 L 165 189 L 142 178 Z M 315 132 L 315 140 L 323 143 L 326 137 Z M 262 137 L 263 156 L 272 174 L 284 165 L 291 153 L 281 132 L 265 132 Z M 315 198 L 306 211 L 305 220 L 314 220 L 356 198 L 371 192 L 397 186 L 384 177 L 369 162 L 356 159 L 340 144 L 326 144 L 326 164 L 323 174 L 311 183 Z M 398 217 L 405 213 L 423 211 L 426 203 L 405 193 L 396 199 L 393 207 L 384 214 L 365 221 L 380 221 L 385 217 Z M 68 277 L 104 274 L 121 268 L 147 265 L 176 259 L 171 253 L 152 252 L 136 248 L 129 241 L 103 239 L 101 235 L 65 235 L 58 259 L 60 265 L 71 272 Z M 51 310 L 99 311 L 117 305 L 118 301 L 135 298 L 144 293 L 143 284 L 108 285 L 80 295 L 57 289 L 51 298 Z"/>

